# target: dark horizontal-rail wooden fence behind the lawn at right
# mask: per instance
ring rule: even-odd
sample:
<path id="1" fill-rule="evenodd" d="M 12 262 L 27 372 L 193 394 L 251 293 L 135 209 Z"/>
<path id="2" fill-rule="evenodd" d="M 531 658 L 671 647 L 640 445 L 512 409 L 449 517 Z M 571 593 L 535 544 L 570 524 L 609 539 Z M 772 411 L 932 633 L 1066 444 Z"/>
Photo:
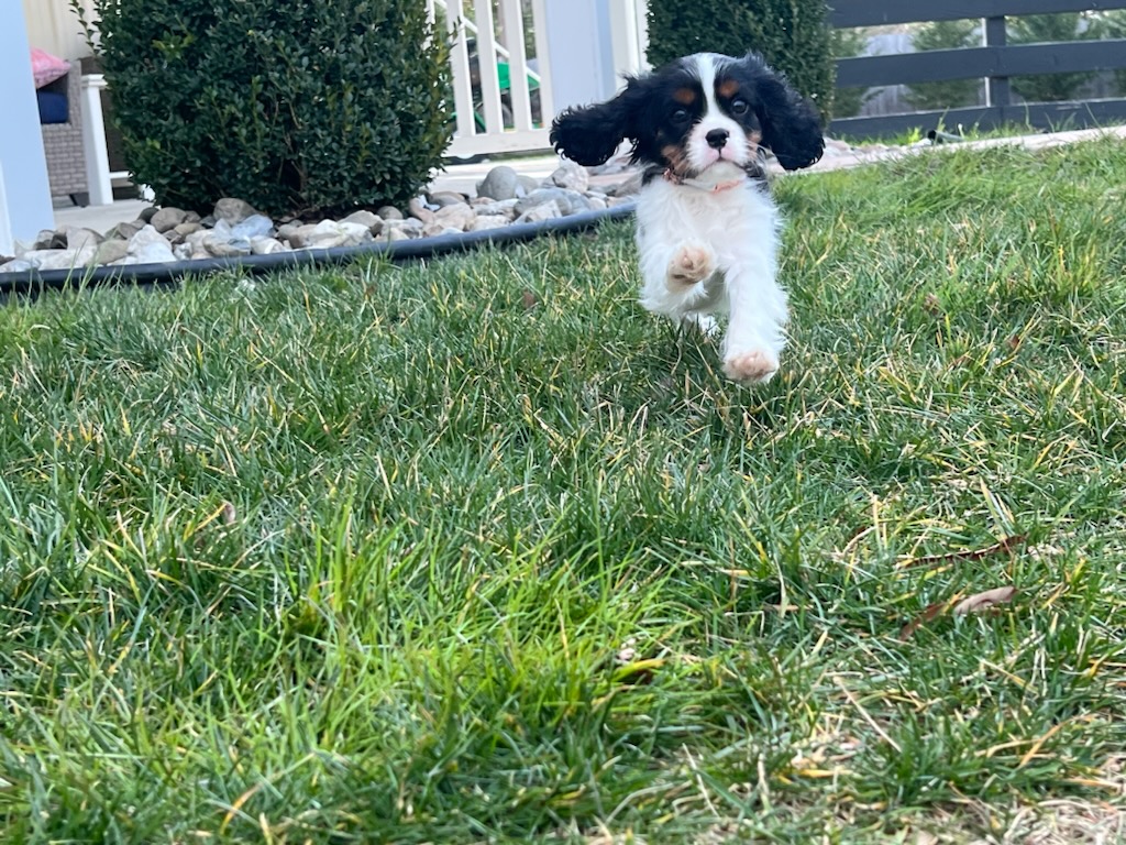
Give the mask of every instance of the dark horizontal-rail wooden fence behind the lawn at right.
<path id="1" fill-rule="evenodd" d="M 1040 73 L 1106 71 L 1126 68 L 1126 38 L 1007 44 L 1006 17 L 1065 11 L 1126 9 L 1126 0 L 829 0 L 839 29 L 858 26 L 914 24 L 981 18 L 984 44 L 964 50 L 931 50 L 901 55 L 840 59 L 837 87 L 864 87 L 984 79 L 985 104 L 941 112 L 912 112 L 833 121 L 834 135 L 876 136 L 942 124 L 991 128 L 1027 124 L 1038 128 L 1080 128 L 1126 119 L 1126 99 L 1013 104 L 1009 77 Z"/>

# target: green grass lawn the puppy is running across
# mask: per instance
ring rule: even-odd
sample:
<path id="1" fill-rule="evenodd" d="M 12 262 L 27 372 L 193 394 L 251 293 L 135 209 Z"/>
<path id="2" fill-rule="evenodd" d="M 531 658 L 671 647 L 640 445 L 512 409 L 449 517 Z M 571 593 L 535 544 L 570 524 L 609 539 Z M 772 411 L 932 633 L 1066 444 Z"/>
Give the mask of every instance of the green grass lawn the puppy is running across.
<path id="1" fill-rule="evenodd" d="M 1124 185 L 780 180 L 759 389 L 636 305 L 628 224 L 9 303 L 3 840 L 1096 842 Z"/>

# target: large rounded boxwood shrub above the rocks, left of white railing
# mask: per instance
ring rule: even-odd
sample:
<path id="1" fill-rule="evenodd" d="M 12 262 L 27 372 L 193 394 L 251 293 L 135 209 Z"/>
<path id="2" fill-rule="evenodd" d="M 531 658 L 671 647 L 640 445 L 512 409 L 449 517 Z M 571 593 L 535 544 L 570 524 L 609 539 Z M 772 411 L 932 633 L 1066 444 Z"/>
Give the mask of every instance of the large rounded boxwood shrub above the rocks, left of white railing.
<path id="1" fill-rule="evenodd" d="M 284 216 L 400 203 L 449 143 L 447 45 L 418 0 L 93 9 L 125 155 L 161 205 L 235 196 Z"/>

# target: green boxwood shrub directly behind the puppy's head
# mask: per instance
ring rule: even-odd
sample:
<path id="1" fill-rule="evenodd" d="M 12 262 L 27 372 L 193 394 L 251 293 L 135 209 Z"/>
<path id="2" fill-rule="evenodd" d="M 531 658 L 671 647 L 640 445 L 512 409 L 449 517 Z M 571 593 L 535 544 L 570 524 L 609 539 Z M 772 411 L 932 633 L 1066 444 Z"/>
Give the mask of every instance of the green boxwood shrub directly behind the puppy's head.
<path id="1" fill-rule="evenodd" d="M 647 59 L 654 66 L 691 53 L 753 50 L 812 99 L 828 122 L 837 71 L 824 0 L 652 0 Z"/>

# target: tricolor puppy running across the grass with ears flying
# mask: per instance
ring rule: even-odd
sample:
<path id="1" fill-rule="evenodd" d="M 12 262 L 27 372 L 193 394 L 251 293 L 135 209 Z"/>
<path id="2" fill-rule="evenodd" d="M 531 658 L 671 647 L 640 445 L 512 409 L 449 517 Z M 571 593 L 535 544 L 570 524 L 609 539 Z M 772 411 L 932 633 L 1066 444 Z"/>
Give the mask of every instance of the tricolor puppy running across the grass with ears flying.
<path id="1" fill-rule="evenodd" d="M 633 160 L 646 166 L 642 304 L 709 333 L 712 315 L 729 313 L 724 372 L 741 382 L 774 375 L 787 317 L 762 148 L 787 170 L 817 161 L 824 141 L 813 106 L 753 53 L 699 53 L 629 79 L 608 103 L 564 112 L 551 137 L 586 166 L 633 143 Z"/>

